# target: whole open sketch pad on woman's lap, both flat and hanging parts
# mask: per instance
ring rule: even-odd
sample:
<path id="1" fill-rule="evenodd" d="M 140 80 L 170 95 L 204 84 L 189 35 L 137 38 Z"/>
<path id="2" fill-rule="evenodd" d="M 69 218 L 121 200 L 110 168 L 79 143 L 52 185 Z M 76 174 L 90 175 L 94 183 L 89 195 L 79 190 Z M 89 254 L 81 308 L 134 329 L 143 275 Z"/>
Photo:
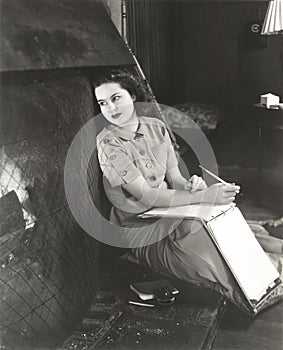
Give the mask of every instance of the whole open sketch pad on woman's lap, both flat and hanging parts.
<path id="1" fill-rule="evenodd" d="M 204 207 L 192 205 L 187 207 L 186 213 L 183 206 L 155 208 L 142 217 L 194 217 L 202 221 L 252 311 L 256 313 L 270 293 L 280 286 L 279 273 L 235 205 L 215 206 L 209 211 Z"/>

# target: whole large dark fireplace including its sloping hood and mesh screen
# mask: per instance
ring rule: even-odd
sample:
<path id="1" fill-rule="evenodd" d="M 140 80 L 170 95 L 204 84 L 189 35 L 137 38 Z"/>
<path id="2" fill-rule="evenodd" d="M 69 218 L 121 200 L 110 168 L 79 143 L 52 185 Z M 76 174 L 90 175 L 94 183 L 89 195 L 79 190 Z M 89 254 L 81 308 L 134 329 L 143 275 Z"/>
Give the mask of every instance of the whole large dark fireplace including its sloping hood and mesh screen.
<path id="1" fill-rule="evenodd" d="M 52 348 L 83 317 L 100 269 L 99 243 L 68 208 L 64 162 L 97 112 L 90 76 L 134 60 L 99 1 L 4 0 L 1 20 L 1 345 Z M 100 207 L 95 157 L 89 167 Z"/>

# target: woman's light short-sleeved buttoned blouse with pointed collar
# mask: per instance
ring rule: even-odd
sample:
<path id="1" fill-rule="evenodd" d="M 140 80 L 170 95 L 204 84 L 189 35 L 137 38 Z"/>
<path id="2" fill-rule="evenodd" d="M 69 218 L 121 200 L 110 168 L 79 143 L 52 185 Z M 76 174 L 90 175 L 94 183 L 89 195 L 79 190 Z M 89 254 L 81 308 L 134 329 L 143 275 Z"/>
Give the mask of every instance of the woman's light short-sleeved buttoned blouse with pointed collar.
<path id="1" fill-rule="evenodd" d="M 136 132 L 109 125 L 97 136 L 98 159 L 112 187 L 143 176 L 151 187 L 159 187 L 166 171 L 178 165 L 164 123 L 139 117 Z"/>

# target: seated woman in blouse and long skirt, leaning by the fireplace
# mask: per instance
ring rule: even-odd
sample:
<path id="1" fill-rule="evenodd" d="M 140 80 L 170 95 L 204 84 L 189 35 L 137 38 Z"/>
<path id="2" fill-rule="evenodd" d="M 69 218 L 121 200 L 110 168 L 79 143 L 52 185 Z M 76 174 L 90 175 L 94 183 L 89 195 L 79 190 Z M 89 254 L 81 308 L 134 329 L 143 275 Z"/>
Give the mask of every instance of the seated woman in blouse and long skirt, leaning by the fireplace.
<path id="1" fill-rule="evenodd" d="M 207 187 L 201 177 L 182 176 L 163 122 L 137 115 L 134 102 L 139 82 L 129 73 L 110 71 L 97 79 L 94 92 L 103 116 L 110 122 L 97 136 L 105 190 L 113 204 L 110 220 L 129 228 L 126 240 L 131 254 L 143 265 L 216 290 L 249 311 L 201 225 L 192 229 L 189 220 L 148 221 L 137 217 L 152 207 L 230 204 L 240 187 L 219 183 Z M 270 248 L 269 236 L 263 233 L 262 237 Z M 273 253 L 282 252 L 282 241 L 271 246 L 275 247 Z"/>

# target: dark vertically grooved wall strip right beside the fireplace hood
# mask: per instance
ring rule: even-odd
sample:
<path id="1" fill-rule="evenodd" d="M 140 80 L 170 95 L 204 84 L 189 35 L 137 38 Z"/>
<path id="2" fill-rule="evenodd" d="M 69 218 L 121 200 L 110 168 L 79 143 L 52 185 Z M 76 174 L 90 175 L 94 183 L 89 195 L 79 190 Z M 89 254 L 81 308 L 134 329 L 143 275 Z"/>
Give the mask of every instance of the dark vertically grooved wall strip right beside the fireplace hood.
<path id="1" fill-rule="evenodd" d="M 158 101 L 164 104 L 174 104 L 176 96 L 184 92 L 181 3 L 157 0 L 127 2 L 129 45 Z"/>

